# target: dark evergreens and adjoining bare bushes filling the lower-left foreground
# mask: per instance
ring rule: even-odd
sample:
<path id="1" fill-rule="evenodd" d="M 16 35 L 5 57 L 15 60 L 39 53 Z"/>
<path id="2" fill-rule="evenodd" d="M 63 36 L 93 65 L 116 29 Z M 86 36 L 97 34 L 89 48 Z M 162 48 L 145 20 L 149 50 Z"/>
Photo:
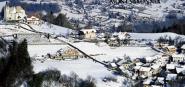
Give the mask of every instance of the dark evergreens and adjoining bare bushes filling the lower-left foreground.
<path id="1" fill-rule="evenodd" d="M 75 73 L 61 75 L 56 69 L 34 74 L 26 40 L 14 41 L 9 48 L 10 55 L 0 58 L 0 87 L 20 87 L 22 84 L 26 87 L 96 87 L 95 79 L 90 76 L 83 80 Z"/>

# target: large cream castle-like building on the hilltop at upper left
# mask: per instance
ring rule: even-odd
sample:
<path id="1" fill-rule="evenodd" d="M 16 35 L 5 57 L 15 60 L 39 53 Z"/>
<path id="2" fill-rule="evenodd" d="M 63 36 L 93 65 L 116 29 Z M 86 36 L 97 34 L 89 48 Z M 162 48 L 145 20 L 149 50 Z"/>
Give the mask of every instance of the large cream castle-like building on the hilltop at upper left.
<path id="1" fill-rule="evenodd" d="M 26 13 L 21 6 L 10 7 L 8 5 L 4 8 L 4 20 L 5 21 L 25 21 Z"/>

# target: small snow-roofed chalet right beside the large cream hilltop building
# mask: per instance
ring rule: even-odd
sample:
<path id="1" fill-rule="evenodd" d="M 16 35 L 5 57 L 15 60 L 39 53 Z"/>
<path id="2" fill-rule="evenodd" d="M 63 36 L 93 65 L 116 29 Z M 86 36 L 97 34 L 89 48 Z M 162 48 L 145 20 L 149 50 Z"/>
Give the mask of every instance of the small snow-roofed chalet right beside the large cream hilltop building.
<path id="1" fill-rule="evenodd" d="M 39 19 L 39 15 L 35 14 L 29 14 L 27 16 L 27 23 L 33 24 L 33 25 L 39 25 L 41 23 L 41 20 Z"/>

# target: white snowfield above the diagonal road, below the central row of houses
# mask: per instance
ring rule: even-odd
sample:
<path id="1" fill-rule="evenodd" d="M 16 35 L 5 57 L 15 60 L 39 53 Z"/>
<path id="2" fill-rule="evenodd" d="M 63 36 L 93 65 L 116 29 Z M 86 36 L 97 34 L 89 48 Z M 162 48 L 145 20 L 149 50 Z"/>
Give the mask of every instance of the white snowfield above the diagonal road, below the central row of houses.
<path id="1" fill-rule="evenodd" d="M 124 58 L 125 55 L 130 56 L 131 59 L 135 59 L 157 54 L 150 47 L 99 47 L 95 43 L 87 42 L 74 43 L 74 45 L 89 55 L 97 55 L 95 58 L 100 61 Z"/>

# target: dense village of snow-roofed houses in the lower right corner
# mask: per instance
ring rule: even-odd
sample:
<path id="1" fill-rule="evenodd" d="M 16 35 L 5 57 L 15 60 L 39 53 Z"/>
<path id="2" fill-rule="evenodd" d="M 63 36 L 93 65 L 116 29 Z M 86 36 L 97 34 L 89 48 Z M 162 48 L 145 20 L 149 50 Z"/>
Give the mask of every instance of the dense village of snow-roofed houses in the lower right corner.
<path id="1" fill-rule="evenodd" d="M 185 51 L 185 45 L 181 47 Z M 175 46 L 166 46 L 166 53 L 152 57 L 136 58 L 134 60 L 114 60 L 109 67 L 116 72 L 121 72 L 134 81 L 141 81 L 143 87 L 165 87 L 173 83 L 183 87 L 185 83 L 185 54 L 177 53 Z"/>

